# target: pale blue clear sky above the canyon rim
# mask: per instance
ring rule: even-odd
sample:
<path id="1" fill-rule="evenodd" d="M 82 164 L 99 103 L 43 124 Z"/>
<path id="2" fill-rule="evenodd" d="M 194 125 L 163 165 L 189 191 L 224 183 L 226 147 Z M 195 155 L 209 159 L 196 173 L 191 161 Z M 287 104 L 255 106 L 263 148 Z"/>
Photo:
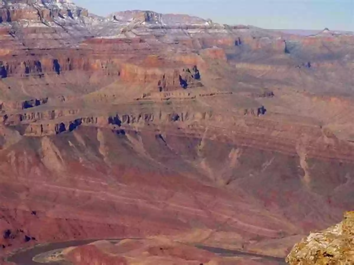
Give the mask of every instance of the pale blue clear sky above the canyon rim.
<path id="1" fill-rule="evenodd" d="M 354 0 L 73 0 L 96 15 L 152 10 L 269 29 L 354 31 Z"/>

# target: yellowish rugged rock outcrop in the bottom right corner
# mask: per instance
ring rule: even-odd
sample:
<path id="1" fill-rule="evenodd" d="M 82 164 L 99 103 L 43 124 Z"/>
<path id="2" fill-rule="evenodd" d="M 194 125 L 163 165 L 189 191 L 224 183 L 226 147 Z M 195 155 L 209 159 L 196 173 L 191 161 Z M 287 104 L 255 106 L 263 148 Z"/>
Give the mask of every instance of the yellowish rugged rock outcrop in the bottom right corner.
<path id="1" fill-rule="evenodd" d="M 311 233 L 287 256 L 291 265 L 354 264 L 354 212 L 322 232 Z"/>

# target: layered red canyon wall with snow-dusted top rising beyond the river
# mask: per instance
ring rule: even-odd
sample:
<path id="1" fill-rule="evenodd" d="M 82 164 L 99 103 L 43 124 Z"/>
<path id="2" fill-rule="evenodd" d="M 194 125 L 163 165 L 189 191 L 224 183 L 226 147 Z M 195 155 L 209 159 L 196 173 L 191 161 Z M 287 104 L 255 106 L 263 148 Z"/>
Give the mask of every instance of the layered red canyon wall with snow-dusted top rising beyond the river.
<path id="1" fill-rule="evenodd" d="M 327 29 L 1 2 L 0 255 L 158 237 L 119 262 L 202 245 L 263 256 L 198 264 L 279 264 L 264 256 L 353 210 L 353 60 L 353 34 Z M 68 259 L 86 250 L 105 262 Z"/>

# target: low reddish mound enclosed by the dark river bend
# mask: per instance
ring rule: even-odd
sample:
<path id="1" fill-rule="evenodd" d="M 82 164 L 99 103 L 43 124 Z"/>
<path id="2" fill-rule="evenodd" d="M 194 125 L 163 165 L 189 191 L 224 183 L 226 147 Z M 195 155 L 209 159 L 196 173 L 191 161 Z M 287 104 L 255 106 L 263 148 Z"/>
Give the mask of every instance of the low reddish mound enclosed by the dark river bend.
<path id="1" fill-rule="evenodd" d="M 212 252 L 187 244 L 159 242 L 154 240 L 127 240 L 114 244 L 98 241 L 89 245 L 64 250 L 65 260 L 73 264 L 277 264 L 265 261 L 258 263 L 247 258 L 230 260 Z M 91 262 L 91 263 L 90 263 Z"/>

